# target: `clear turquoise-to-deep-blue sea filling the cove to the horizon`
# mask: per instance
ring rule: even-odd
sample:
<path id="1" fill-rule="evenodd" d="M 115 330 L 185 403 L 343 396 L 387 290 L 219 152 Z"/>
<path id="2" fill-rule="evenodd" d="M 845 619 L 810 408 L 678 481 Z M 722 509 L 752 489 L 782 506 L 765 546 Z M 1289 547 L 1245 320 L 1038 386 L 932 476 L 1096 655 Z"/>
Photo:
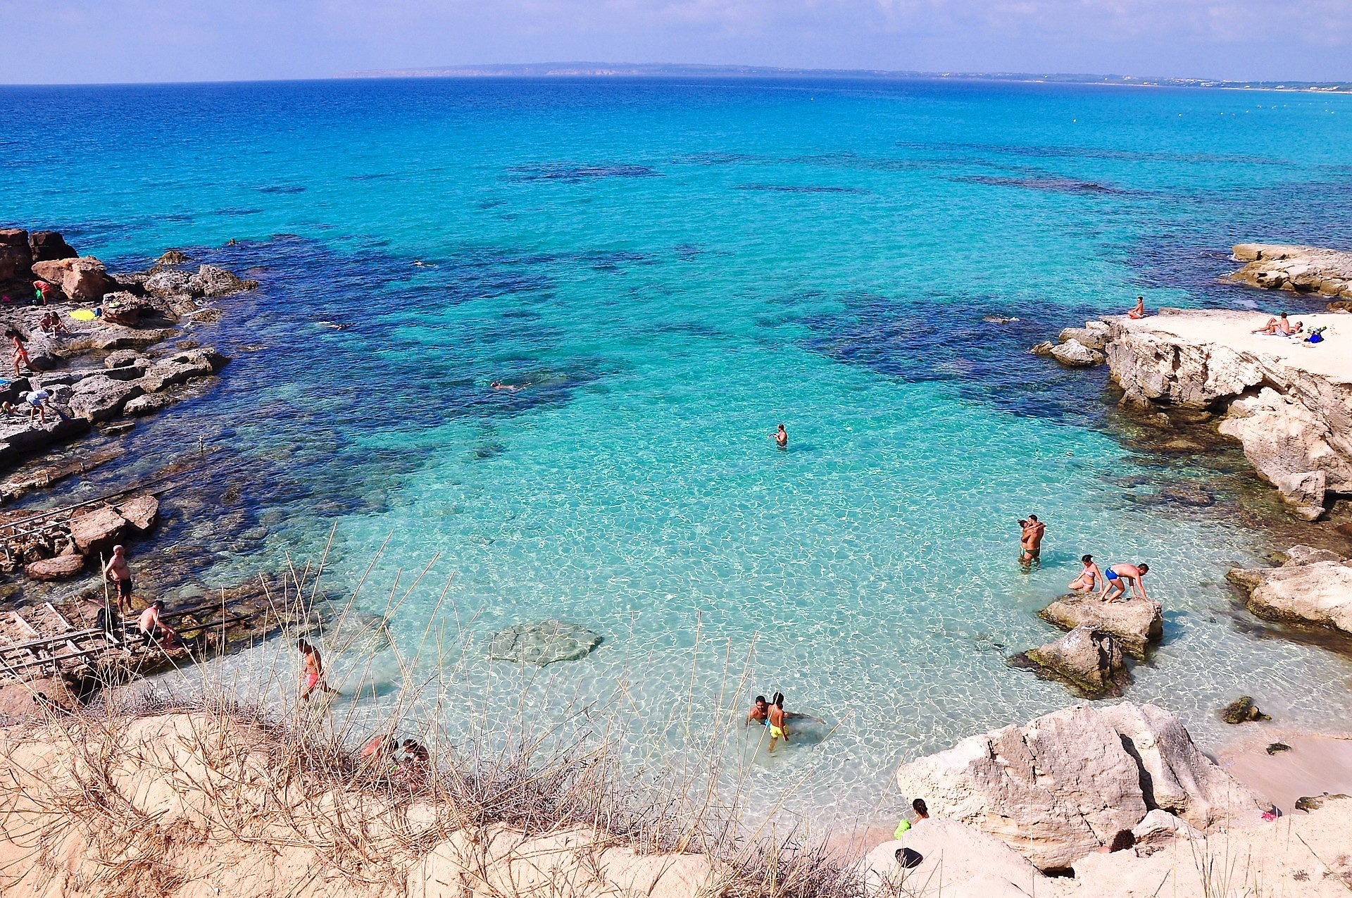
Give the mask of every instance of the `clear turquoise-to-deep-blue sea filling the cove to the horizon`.
<path id="1" fill-rule="evenodd" d="M 334 590 L 384 544 L 360 595 L 380 613 L 435 557 L 391 625 L 419 663 L 334 657 L 345 688 L 388 695 L 439 657 L 420 711 L 449 733 L 606 706 L 641 761 L 783 690 L 838 726 L 758 757 L 749 801 L 886 825 L 899 761 L 1071 701 L 1005 659 L 1055 636 L 1036 611 L 1086 552 L 1149 561 L 1164 603 L 1129 698 L 1209 747 L 1238 694 L 1347 719 L 1352 661 L 1234 610 L 1225 569 L 1271 548 L 1244 465 L 1142 450 L 1102 371 L 1025 350 L 1140 293 L 1288 303 L 1215 279 L 1234 242 L 1352 243 L 1349 150 L 1352 99 L 1313 93 L 0 88 L 7 222 L 114 266 L 177 246 L 262 283 L 203 329 L 235 358 L 222 383 L 131 444 L 149 471 L 200 435 L 250 475 L 256 540 L 220 545 L 212 582 L 318 559 L 335 527 Z M 1133 500 L 1178 481 L 1217 504 Z M 1030 511 L 1048 537 L 1023 573 Z M 538 674 L 487 660 L 489 633 L 544 618 L 604 642 Z"/>

